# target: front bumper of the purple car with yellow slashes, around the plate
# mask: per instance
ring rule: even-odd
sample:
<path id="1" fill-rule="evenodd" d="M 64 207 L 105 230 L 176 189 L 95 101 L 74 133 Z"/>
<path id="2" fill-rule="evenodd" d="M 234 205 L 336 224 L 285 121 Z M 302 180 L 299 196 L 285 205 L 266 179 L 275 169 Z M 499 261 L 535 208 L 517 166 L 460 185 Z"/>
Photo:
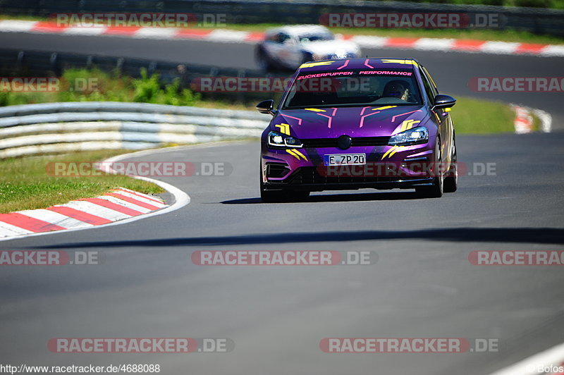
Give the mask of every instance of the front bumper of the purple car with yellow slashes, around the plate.
<path id="1" fill-rule="evenodd" d="M 429 145 L 393 147 L 333 147 L 270 149 L 263 142 L 263 190 L 357 190 L 363 188 L 410 189 L 431 185 L 427 164 L 434 161 Z M 298 152 L 295 152 L 295 151 Z M 325 166 L 326 154 L 366 154 L 364 166 Z"/>

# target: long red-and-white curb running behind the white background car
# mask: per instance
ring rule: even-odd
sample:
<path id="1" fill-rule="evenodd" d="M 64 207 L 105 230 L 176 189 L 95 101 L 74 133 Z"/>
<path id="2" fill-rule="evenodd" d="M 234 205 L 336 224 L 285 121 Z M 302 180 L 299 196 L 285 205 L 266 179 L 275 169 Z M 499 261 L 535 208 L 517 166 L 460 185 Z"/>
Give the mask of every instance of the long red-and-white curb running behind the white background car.
<path id="1" fill-rule="evenodd" d="M 110 35 L 147 39 L 200 39 L 208 42 L 256 43 L 264 39 L 263 32 L 228 29 L 189 29 L 177 27 L 110 27 L 103 25 L 58 26 L 44 21 L 3 20 L 0 32 L 59 33 L 64 35 Z M 564 56 L 564 44 L 531 44 L 496 42 L 474 39 L 440 39 L 376 37 L 372 35 L 343 35 L 367 48 L 418 49 L 422 51 L 462 51 L 482 54 Z"/>

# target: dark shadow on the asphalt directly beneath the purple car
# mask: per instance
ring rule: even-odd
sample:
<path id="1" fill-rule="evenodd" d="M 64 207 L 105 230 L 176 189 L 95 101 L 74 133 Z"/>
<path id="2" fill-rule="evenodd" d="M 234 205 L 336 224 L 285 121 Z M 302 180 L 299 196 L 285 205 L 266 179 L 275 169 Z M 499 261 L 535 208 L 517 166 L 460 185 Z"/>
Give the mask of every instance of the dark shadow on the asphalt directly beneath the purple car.
<path id="1" fill-rule="evenodd" d="M 401 199 L 422 199 L 416 192 L 368 192 L 352 194 L 331 194 L 331 195 L 311 195 L 307 199 L 301 199 L 300 203 L 307 202 L 362 202 L 376 200 L 401 200 Z M 221 204 L 257 204 L 262 203 L 260 198 L 231 199 L 221 202 Z M 284 202 L 295 203 L 295 202 Z M 272 204 L 272 203 L 269 203 Z"/>

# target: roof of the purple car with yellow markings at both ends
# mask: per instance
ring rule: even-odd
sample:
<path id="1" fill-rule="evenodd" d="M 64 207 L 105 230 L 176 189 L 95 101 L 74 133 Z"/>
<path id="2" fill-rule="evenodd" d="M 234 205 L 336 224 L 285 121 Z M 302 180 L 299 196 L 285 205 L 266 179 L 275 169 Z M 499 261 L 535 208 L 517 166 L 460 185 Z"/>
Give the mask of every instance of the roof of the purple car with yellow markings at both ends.
<path id="1" fill-rule="evenodd" d="M 340 59 L 340 60 L 324 60 L 309 61 L 300 66 L 300 71 L 331 71 L 347 69 L 409 69 L 419 66 L 415 59 L 398 59 L 384 57 L 366 57 L 357 59 Z"/>

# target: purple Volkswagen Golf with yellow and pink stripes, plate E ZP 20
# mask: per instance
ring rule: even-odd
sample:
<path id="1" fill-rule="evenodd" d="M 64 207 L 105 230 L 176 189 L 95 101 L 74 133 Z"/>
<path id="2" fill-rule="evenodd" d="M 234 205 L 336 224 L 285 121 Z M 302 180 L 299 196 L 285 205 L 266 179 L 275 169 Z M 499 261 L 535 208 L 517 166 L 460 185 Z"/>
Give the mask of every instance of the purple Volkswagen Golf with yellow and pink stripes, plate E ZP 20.
<path id="1" fill-rule="evenodd" d="M 441 197 L 458 184 L 450 108 L 429 72 L 411 59 L 304 63 L 262 133 L 264 202 L 321 190 L 415 189 Z"/>

